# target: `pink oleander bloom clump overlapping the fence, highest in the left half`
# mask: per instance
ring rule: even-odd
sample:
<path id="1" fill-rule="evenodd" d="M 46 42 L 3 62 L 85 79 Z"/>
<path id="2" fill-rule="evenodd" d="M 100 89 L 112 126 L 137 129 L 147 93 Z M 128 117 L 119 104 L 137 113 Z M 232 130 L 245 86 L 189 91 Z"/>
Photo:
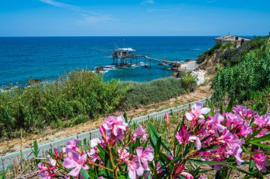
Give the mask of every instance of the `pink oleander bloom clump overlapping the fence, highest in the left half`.
<path id="1" fill-rule="evenodd" d="M 109 139 L 112 139 L 114 142 L 119 142 L 123 140 L 124 132 L 128 124 L 125 122 L 124 117 L 120 115 L 117 117 L 109 116 L 103 121 L 102 126 L 106 131 L 109 131 L 109 134 L 107 134 Z"/>

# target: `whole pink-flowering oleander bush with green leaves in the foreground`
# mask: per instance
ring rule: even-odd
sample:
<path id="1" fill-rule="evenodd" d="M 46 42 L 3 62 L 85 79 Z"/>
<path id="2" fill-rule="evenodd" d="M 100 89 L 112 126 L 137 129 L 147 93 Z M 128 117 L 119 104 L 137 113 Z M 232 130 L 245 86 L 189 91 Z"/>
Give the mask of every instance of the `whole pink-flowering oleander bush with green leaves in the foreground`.
<path id="1" fill-rule="evenodd" d="M 205 166 L 223 178 L 234 170 L 251 178 L 270 173 L 269 113 L 259 115 L 240 105 L 213 111 L 196 102 L 177 126 L 168 113 L 164 119 L 158 128 L 166 128 L 166 136 L 151 122 L 136 126 L 124 116 L 109 116 L 99 126 L 100 138 L 67 141 L 62 151 L 38 163 L 38 175 L 202 179 L 207 178 Z"/>

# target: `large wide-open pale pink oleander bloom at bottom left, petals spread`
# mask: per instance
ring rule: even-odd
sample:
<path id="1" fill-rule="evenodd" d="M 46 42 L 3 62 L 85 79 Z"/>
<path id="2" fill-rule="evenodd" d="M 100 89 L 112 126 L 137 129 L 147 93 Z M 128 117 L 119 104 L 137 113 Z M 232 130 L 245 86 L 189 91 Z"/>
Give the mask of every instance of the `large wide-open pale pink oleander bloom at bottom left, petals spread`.
<path id="1" fill-rule="evenodd" d="M 87 153 L 82 154 L 80 156 L 79 153 L 72 152 L 68 153 L 68 156 L 65 158 L 65 161 L 63 162 L 63 166 L 65 168 L 73 169 L 68 173 L 68 175 L 72 177 L 77 177 L 80 173 L 80 169 L 83 168 L 85 170 L 89 170 L 89 166 L 87 166 L 85 163 L 87 161 Z"/>

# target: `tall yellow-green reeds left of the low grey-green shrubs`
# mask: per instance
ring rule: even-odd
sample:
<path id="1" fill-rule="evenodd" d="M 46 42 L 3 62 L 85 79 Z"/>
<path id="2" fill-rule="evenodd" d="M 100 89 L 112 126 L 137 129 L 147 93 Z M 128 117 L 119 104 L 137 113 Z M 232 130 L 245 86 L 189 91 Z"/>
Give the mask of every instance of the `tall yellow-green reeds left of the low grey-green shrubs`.
<path id="1" fill-rule="evenodd" d="M 121 82 L 103 82 L 89 71 L 76 71 L 56 82 L 0 92 L 0 138 L 46 126 L 61 127 L 114 111 L 126 94 Z"/>

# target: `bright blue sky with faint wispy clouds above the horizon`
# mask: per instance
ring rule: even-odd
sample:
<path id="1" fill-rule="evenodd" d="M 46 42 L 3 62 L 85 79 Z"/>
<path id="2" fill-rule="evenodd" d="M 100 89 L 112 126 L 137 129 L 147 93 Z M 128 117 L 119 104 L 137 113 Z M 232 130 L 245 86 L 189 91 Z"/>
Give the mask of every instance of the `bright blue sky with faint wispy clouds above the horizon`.
<path id="1" fill-rule="evenodd" d="M 269 31 L 269 0 L 0 1 L 0 36 L 264 36 Z"/>

